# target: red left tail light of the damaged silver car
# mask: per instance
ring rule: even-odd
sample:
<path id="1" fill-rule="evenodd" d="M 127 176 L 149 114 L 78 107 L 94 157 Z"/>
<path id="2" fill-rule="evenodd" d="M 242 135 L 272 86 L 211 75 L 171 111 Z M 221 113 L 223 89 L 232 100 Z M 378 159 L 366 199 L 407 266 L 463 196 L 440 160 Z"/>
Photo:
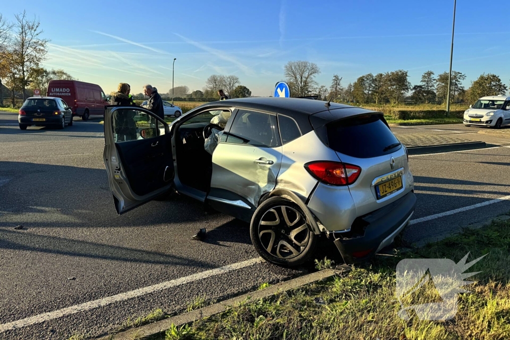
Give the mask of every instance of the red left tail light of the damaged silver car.
<path id="1" fill-rule="evenodd" d="M 341 162 L 311 162 L 304 167 L 313 177 L 332 186 L 351 185 L 361 173 L 359 166 Z"/>

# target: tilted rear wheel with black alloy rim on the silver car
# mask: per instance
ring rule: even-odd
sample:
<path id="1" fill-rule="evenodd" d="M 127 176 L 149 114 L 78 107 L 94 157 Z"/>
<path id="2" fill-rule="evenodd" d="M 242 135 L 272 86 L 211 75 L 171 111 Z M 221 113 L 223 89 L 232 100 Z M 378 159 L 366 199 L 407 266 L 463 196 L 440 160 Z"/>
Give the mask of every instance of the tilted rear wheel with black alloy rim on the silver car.
<path id="1" fill-rule="evenodd" d="M 296 203 L 283 197 L 264 201 L 250 224 L 251 242 L 267 261 L 284 267 L 296 267 L 315 253 L 317 236 Z"/>

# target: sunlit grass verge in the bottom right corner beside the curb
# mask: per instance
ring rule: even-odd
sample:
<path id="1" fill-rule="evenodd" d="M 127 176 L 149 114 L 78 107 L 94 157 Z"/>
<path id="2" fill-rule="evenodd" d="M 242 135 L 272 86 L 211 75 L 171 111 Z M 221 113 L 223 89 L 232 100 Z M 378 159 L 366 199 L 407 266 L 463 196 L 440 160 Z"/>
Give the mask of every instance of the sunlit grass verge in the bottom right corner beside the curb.
<path id="1" fill-rule="evenodd" d="M 468 272 L 470 293 L 458 297 L 451 320 L 402 320 L 395 301 L 395 268 L 403 258 L 449 258 L 458 263 L 488 254 Z M 336 276 L 269 299 L 246 301 L 189 325 L 172 326 L 152 339 L 509 339 L 510 220 L 465 229 L 443 241 L 395 256 L 377 256 L 346 276 Z M 327 267 L 327 261 L 317 263 Z M 431 281 L 429 281 L 431 282 Z M 406 297 L 404 305 L 441 299 L 433 285 Z"/>

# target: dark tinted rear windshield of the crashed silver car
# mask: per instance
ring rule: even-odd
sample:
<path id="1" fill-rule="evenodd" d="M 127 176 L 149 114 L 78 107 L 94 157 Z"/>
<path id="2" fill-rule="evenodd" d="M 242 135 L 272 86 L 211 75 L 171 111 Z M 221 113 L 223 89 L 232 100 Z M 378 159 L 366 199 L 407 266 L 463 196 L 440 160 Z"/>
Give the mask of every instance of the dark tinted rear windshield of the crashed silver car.
<path id="1" fill-rule="evenodd" d="M 402 147 L 380 115 L 332 122 L 326 130 L 331 149 L 356 158 L 382 156 Z"/>

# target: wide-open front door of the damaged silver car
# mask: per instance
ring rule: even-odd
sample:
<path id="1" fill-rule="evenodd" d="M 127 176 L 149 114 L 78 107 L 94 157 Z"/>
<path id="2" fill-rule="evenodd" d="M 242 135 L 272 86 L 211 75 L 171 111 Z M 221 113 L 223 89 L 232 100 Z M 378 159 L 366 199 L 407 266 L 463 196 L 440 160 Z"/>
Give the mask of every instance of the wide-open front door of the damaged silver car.
<path id="1" fill-rule="evenodd" d="M 168 124 L 143 108 L 106 107 L 104 161 L 117 214 L 160 196 L 174 177 Z"/>

